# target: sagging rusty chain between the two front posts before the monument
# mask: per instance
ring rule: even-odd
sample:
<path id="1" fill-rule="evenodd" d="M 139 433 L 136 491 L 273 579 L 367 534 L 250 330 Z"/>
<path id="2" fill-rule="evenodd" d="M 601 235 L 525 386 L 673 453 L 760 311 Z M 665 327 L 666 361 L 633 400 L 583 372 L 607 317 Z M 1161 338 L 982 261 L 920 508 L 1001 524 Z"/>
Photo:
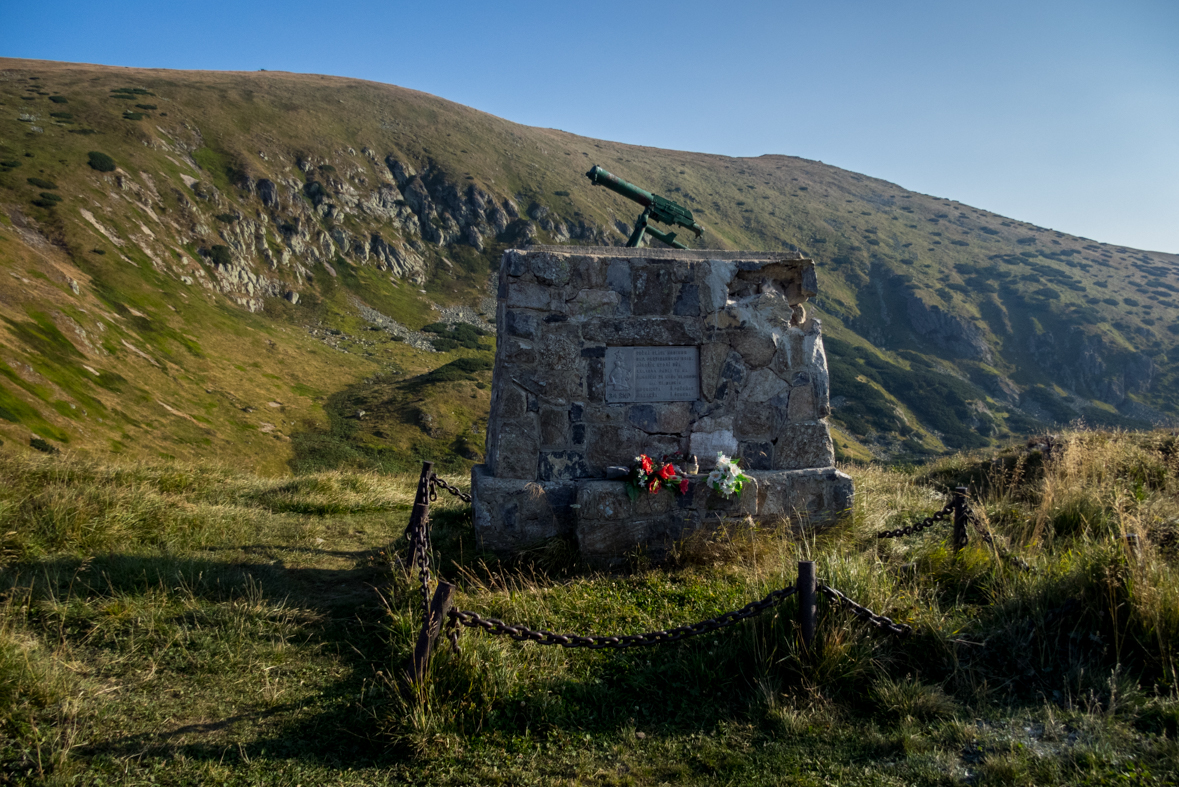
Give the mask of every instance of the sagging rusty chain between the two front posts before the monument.
<path id="1" fill-rule="evenodd" d="M 678 642 L 690 636 L 707 634 L 717 629 L 732 626 L 747 617 L 760 615 L 766 609 L 780 604 L 785 598 L 797 593 L 793 586 L 775 590 L 760 601 L 751 601 L 740 609 L 725 613 L 717 617 L 710 617 L 699 623 L 678 626 L 672 629 L 660 631 L 647 631 L 645 634 L 624 634 L 620 636 L 579 636 L 577 634 L 554 634 L 545 629 L 531 629 L 527 626 L 512 626 L 494 617 L 482 617 L 477 613 L 452 609 L 450 631 L 448 637 L 450 647 L 459 650 L 459 624 L 468 628 L 480 628 L 488 634 L 509 636 L 516 642 L 535 642 L 538 644 L 559 644 L 562 648 L 587 648 L 590 650 L 601 650 L 602 648 L 614 648 L 625 650 L 626 648 L 646 647 L 663 644 L 664 642 Z"/>

